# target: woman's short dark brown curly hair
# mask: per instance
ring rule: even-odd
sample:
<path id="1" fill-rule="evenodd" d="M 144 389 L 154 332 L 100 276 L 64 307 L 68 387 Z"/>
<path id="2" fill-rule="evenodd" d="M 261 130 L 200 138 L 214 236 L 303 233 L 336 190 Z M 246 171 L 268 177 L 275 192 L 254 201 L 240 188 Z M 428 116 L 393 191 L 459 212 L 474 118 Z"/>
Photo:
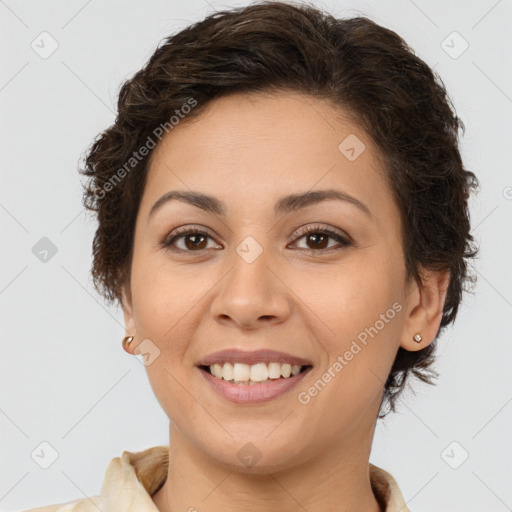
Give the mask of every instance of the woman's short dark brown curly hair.
<path id="1" fill-rule="evenodd" d="M 155 145 L 159 127 L 169 132 L 175 114 L 188 112 L 187 121 L 223 95 L 272 90 L 313 95 L 348 112 L 375 143 L 399 206 L 407 278 L 421 284 L 422 268 L 450 273 L 434 341 L 418 351 L 398 349 L 383 418 L 395 411 L 409 375 L 429 384 L 438 376 L 438 337 L 455 320 L 466 283 L 476 281 L 466 260 L 479 251 L 468 211 L 479 181 L 463 166 L 458 131 L 465 127 L 439 75 L 394 31 L 365 16 L 337 19 L 310 4 L 263 1 L 215 12 L 166 38 L 122 85 L 115 122 L 96 137 L 80 170 L 88 177 L 84 206 L 98 219 L 94 286 L 122 305 L 149 141 Z"/>

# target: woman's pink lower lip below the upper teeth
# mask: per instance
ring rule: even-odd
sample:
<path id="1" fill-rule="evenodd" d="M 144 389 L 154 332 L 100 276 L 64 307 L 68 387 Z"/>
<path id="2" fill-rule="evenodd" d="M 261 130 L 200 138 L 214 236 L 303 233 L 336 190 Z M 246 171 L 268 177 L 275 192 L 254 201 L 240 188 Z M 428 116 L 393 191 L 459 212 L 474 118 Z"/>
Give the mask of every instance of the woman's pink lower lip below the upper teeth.
<path id="1" fill-rule="evenodd" d="M 267 402 L 293 389 L 312 369 L 307 368 L 301 373 L 287 379 L 276 379 L 260 384 L 232 384 L 223 379 L 214 377 L 210 372 L 201 368 L 199 371 L 215 391 L 235 404 L 252 404 Z"/>

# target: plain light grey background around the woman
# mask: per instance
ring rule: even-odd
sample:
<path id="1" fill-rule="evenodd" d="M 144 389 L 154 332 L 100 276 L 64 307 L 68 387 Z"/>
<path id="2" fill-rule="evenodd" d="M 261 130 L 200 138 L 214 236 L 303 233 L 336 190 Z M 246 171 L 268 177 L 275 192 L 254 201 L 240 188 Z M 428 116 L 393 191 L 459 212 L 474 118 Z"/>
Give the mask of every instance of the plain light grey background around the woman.
<path id="1" fill-rule="evenodd" d="M 97 494 L 113 457 L 168 443 L 145 368 L 121 348 L 121 311 L 92 287 L 95 223 L 81 206 L 78 160 L 113 122 L 121 82 L 163 37 L 248 3 L 0 0 L 2 509 Z M 417 383 L 378 423 L 370 461 L 414 512 L 511 510 L 512 3 L 315 3 L 397 31 L 440 73 L 466 124 L 466 168 L 482 184 L 471 202 L 479 283 L 442 338 L 438 385 Z M 59 45 L 46 59 L 31 47 L 43 31 Z M 446 39 L 453 31 L 469 44 L 458 58 L 445 51 L 462 48 Z M 32 252 L 42 237 L 57 247 L 46 263 Z M 43 441 L 59 455 L 46 470 L 31 458 Z"/>

